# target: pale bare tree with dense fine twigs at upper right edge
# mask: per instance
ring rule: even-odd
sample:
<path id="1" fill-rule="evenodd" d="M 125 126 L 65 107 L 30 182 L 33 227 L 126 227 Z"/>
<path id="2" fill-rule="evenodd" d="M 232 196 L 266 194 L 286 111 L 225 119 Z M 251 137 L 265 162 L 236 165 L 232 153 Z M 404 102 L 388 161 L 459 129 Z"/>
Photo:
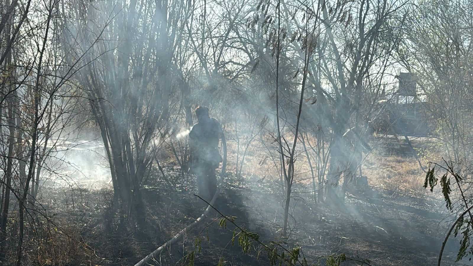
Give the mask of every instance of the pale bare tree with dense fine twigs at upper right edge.
<path id="1" fill-rule="evenodd" d="M 408 17 L 405 36 L 412 46 L 397 49 L 403 66 L 417 76 L 423 105 L 451 160 L 471 159 L 471 2 L 423 2 Z M 422 19 L 418 19 L 422 18 Z M 458 165 L 456 165 L 458 166 Z"/>

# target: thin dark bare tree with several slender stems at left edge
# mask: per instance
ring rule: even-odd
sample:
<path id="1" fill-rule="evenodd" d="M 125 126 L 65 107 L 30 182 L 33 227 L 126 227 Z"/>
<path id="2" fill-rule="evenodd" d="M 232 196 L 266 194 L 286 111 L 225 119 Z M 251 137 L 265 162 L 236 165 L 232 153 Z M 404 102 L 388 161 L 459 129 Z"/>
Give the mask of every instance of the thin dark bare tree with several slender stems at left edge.
<path id="1" fill-rule="evenodd" d="M 68 65 L 58 54 L 59 0 L 14 3 L 17 6 L 10 7 L 18 16 L 6 21 L 8 34 L 3 36 L 7 37 L 8 45 L 2 50 L 5 61 L 0 69 L 1 121 L 6 118 L 9 131 L 8 149 L 1 152 L 7 175 L 1 180 L 4 197 L 1 198 L 0 239 L 3 248 L 8 216 L 14 211 L 10 207 L 13 195 L 14 206 L 18 206 L 19 234 L 11 241 L 17 241 L 16 264 L 22 265 L 26 215 L 34 220 L 30 212 L 40 211 L 35 209 L 35 201 L 42 172 L 51 174 L 57 167 L 45 162 L 55 156 L 54 147 L 60 144 L 66 127 L 72 126 L 72 110 L 77 108 L 77 102 L 72 101 L 75 84 L 70 80 L 77 73 L 78 59 L 70 60 Z M 30 8 L 35 10 L 33 20 L 26 19 Z M 3 123 L 0 131 L 3 136 Z"/>

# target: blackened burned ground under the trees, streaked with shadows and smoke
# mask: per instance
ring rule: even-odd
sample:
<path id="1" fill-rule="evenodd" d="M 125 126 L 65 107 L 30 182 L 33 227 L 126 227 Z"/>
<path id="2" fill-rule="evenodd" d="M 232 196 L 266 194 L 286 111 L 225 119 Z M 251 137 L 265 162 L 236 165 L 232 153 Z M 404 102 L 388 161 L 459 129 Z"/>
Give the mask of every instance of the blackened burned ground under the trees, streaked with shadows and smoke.
<path id="1" fill-rule="evenodd" d="M 181 176 L 173 164 L 165 169 L 175 188 L 165 185 L 159 178 L 150 179 L 151 184 L 144 189 L 148 227 L 142 231 L 136 230 L 126 219 L 120 219 L 115 211 L 113 193 L 107 187 L 43 190 L 40 202 L 46 210 L 54 211 L 49 213 L 51 221 L 56 222 L 55 228 L 59 228 L 56 230 L 64 231 L 61 226 L 69 226 L 70 233 L 75 235 L 72 242 L 69 240 L 63 242 L 62 247 L 54 247 L 79 247 L 73 251 L 67 249 L 69 253 L 63 251 L 72 259 L 62 264 L 133 265 L 199 217 L 205 204 L 193 195 L 193 177 Z M 228 216 L 236 216 L 238 225 L 258 233 L 263 242 L 281 240 L 279 189 L 279 185 L 271 180 L 242 179 L 229 174 L 224 178 L 215 207 Z M 288 248 L 301 246 L 309 261 L 316 262 L 319 256 L 345 253 L 347 257 L 369 259 L 371 265 L 436 265 L 448 225 L 442 222 L 447 213 L 441 211 L 441 201 L 373 189 L 371 193 L 349 194 L 345 207 L 334 209 L 324 203 L 316 204 L 309 199 L 310 195 L 301 193 L 307 189 L 310 188 L 301 184 L 294 189 L 290 235 L 282 240 Z M 232 245 L 235 227 L 228 223 L 226 229 L 221 228 L 217 218 L 219 215 L 212 211 L 200 227 L 185 235 L 184 241 L 156 258 L 154 265 L 186 265 L 186 256 L 194 250 L 196 238 L 201 239 L 201 250 L 196 252 L 195 265 L 217 265 L 220 258 L 227 262 L 226 265 L 268 265 L 266 253 L 258 254 L 257 246 L 243 254 L 237 241 Z M 53 240 L 60 241 L 61 238 Z M 459 239 L 449 240 L 443 265 L 468 265 L 453 263 L 458 242 Z M 42 254 L 43 261 L 55 264 L 53 258 L 45 259 L 52 254 L 55 253 Z M 30 262 L 35 261 L 32 255 Z M 359 264 L 347 262 L 343 265 Z"/>

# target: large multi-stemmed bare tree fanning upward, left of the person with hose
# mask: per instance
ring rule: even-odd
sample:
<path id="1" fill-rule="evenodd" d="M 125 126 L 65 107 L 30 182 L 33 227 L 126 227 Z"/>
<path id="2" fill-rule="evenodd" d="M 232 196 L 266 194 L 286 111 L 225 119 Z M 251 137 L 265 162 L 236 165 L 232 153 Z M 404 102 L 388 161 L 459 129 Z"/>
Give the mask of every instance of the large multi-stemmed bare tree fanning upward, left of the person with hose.
<path id="1" fill-rule="evenodd" d="M 89 50 L 80 82 L 88 94 L 109 160 L 115 195 L 123 211 L 133 209 L 142 224 L 146 213 L 141 182 L 152 163 L 149 148 L 162 138 L 174 100 L 172 77 L 179 77 L 173 54 L 190 17 L 190 2 L 72 1 L 67 47 Z M 105 27 L 102 29 L 102 27 Z M 103 35 L 92 42 L 94 35 Z M 69 48 L 67 48 L 69 49 Z M 158 129 L 162 129 L 159 130 Z M 125 213 L 123 213 L 125 214 Z"/>

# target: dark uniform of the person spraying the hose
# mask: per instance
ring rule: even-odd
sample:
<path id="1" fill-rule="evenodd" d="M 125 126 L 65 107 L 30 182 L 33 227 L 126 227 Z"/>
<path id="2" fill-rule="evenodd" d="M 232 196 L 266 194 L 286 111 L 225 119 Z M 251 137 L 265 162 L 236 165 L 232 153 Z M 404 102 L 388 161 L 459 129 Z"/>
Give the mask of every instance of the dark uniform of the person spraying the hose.
<path id="1" fill-rule="evenodd" d="M 222 162 L 219 152 L 219 140 L 222 134 L 219 121 L 213 117 L 207 117 L 194 124 L 189 133 L 192 171 L 197 175 L 199 195 L 207 199 L 210 199 L 217 190 L 215 169 Z"/>

